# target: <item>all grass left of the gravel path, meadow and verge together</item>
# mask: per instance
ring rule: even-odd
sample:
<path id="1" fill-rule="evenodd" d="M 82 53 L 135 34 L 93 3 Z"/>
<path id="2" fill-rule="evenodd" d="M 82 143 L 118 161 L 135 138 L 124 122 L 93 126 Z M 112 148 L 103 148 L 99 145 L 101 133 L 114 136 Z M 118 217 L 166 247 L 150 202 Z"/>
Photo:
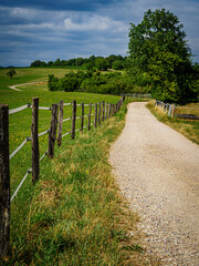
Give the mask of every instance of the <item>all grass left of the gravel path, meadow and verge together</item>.
<path id="1" fill-rule="evenodd" d="M 25 85 L 20 92 L 8 89 L 12 84 L 44 81 L 49 71 L 21 69 L 10 80 L 6 71 L 0 70 L 0 102 L 12 109 L 31 102 L 32 96 L 39 96 L 42 106 L 60 100 L 115 103 L 119 99 L 49 92 L 46 83 Z M 65 70 L 53 69 L 51 73 L 61 76 Z M 28 176 L 11 204 L 12 253 L 4 265 L 159 265 L 142 248 L 142 237 L 136 231 L 138 217 L 129 213 L 119 196 L 108 164 L 111 144 L 125 124 L 126 105 L 97 129 L 92 127 L 90 133 L 77 132 L 74 141 L 70 135 L 63 139 L 62 146 L 55 146 L 55 157 L 45 156 L 41 162 L 40 181 L 35 185 L 32 185 L 31 174 Z M 40 110 L 39 113 L 39 132 L 42 132 L 50 126 L 51 112 Z M 71 106 L 65 106 L 64 119 L 69 116 Z M 11 153 L 30 136 L 31 109 L 11 114 L 9 119 Z M 63 133 L 70 129 L 66 122 Z M 46 149 L 48 136 L 44 135 L 40 139 L 40 154 Z M 30 160 L 28 142 L 10 161 L 11 195 L 30 168 Z"/>

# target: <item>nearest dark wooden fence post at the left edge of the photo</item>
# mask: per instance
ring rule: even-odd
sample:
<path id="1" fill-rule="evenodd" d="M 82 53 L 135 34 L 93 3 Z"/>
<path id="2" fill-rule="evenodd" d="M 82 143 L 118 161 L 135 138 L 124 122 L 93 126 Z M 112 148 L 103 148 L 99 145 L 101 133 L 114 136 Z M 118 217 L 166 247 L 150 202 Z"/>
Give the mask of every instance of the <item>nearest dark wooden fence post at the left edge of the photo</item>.
<path id="1" fill-rule="evenodd" d="M 9 106 L 0 103 L 0 260 L 10 249 Z"/>

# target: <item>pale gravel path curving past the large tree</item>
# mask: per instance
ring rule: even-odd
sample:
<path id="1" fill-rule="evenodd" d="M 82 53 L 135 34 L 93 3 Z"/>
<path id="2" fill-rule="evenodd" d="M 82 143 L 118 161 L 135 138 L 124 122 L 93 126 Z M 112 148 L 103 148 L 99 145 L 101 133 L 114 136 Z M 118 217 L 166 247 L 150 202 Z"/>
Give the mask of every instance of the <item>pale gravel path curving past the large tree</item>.
<path id="1" fill-rule="evenodd" d="M 109 155 L 117 183 L 140 216 L 148 253 L 165 265 L 199 265 L 199 146 L 130 103 Z"/>

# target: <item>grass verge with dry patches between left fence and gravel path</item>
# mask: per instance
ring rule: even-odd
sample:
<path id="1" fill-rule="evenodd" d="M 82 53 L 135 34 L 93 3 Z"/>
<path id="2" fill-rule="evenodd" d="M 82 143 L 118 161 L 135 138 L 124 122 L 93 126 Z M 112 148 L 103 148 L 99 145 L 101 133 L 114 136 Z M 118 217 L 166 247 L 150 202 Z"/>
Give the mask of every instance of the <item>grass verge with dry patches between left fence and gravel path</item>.
<path id="1" fill-rule="evenodd" d="M 11 205 L 7 265 L 159 265 L 142 248 L 138 217 L 108 164 L 126 105 L 97 129 L 63 139 L 55 158 L 42 161 L 35 185 L 28 177 Z"/>

